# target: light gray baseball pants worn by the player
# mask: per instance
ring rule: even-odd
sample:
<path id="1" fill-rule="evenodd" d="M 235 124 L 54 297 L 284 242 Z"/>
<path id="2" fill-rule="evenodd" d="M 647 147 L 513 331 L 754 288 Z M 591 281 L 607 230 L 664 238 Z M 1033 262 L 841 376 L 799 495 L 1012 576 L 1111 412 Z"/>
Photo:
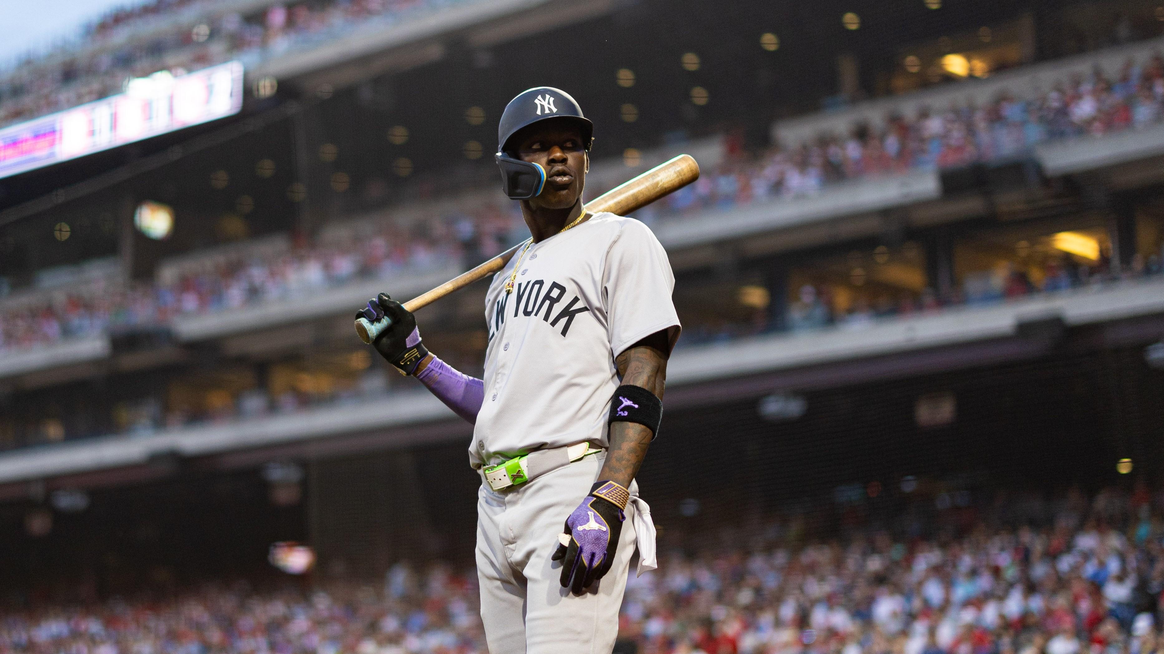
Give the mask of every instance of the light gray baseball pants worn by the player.
<path id="1" fill-rule="evenodd" d="M 570 511 L 598 477 L 605 453 L 592 454 L 513 489 L 477 494 L 477 580 L 491 654 L 609 654 L 634 553 L 634 505 L 626 505 L 615 563 L 588 592 L 562 588 L 549 556 Z M 638 494 L 632 483 L 631 493 Z"/>

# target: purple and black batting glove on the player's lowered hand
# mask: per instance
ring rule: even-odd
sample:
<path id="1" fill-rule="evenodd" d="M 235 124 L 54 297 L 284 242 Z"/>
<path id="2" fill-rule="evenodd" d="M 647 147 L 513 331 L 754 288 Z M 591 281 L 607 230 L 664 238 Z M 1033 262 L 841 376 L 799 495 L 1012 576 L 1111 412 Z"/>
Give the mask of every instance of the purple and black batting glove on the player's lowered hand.
<path id="1" fill-rule="evenodd" d="M 605 483 L 596 482 L 591 493 Z M 552 560 L 562 562 L 562 588 L 569 588 L 574 595 L 582 595 L 591 583 L 610 570 L 625 519 L 626 515 L 617 504 L 592 495 L 574 509 L 566 518 L 562 533 L 563 540 L 569 537 L 569 545 L 559 544 L 551 556 Z"/>

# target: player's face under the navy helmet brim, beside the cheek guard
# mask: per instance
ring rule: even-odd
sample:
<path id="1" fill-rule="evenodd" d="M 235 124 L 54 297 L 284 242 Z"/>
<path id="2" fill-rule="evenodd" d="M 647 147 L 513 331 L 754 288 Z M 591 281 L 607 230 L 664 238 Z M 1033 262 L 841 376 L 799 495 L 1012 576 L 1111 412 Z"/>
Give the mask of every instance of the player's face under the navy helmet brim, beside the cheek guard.
<path id="1" fill-rule="evenodd" d="M 546 185 L 530 204 L 566 209 L 577 202 L 585 186 L 587 158 L 577 128 L 547 125 L 533 131 L 519 142 L 517 154 L 523 161 L 538 164 L 546 171 Z"/>

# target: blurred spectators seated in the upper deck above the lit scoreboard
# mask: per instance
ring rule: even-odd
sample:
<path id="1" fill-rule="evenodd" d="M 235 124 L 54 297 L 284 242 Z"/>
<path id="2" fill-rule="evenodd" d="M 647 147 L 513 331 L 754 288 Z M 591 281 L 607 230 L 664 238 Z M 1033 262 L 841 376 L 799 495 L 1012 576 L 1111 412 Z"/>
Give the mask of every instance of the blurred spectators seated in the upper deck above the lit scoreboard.
<path id="1" fill-rule="evenodd" d="M 242 15 L 236 0 L 154 0 L 116 9 L 80 39 L 0 77 L 0 127 L 121 93 L 127 78 L 196 71 L 232 59 L 269 58 L 385 28 L 471 0 L 329 0 L 286 3 Z M 185 10 L 185 12 L 183 12 Z M 166 20 L 170 15 L 178 20 Z"/>

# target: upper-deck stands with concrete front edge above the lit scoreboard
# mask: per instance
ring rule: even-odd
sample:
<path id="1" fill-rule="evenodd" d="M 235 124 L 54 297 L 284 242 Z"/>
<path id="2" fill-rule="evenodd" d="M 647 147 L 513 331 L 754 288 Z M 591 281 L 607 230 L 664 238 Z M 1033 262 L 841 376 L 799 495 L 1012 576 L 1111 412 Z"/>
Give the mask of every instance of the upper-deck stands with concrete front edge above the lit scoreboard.
<path id="1" fill-rule="evenodd" d="M 7 71 L 0 127 L 120 93 L 127 78 L 159 70 L 240 60 L 258 76 L 284 78 L 336 63 L 328 50 L 338 42 L 342 62 L 544 1 L 155 0 L 98 21 L 79 48 Z"/>

